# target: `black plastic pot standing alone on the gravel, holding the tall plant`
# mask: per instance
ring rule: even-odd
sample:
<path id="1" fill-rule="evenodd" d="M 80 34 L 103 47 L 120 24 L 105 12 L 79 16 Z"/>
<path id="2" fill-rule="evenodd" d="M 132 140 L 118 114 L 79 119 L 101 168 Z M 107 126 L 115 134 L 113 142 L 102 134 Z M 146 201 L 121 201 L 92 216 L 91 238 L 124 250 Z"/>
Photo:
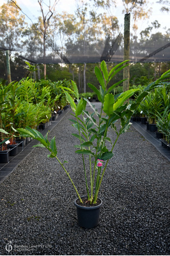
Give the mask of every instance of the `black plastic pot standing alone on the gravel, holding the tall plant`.
<path id="1" fill-rule="evenodd" d="M 81 198 L 84 198 L 87 196 L 81 196 Z M 100 199 L 100 198 L 98 198 Z M 102 200 L 100 199 L 100 204 L 93 207 L 86 207 L 78 205 L 76 202 L 79 200 L 77 198 L 75 200 L 75 206 L 77 207 L 77 220 L 79 226 L 82 228 L 94 228 L 97 227 L 99 216 L 100 216 L 100 207 L 102 206 Z"/>

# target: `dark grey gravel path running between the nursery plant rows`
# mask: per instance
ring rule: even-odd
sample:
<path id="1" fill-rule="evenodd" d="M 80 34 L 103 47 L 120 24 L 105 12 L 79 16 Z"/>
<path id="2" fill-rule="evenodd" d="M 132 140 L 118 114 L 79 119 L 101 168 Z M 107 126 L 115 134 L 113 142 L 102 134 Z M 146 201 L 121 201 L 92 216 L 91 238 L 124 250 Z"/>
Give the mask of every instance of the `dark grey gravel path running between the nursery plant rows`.
<path id="1" fill-rule="evenodd" d="M 68 118 L 69 113 L 49 138 L 56 135 L 59 159 L 69 162 L 66 168 L 86 195 Z M 1 255 L 170 254 L 169 161 L 133 127 L 114 148 L 99 195 L 100 223 L 91 230 L 77 225 L 77 195 L 47 154 L 45 148 L 34 148 L 0 186 Z"/>

